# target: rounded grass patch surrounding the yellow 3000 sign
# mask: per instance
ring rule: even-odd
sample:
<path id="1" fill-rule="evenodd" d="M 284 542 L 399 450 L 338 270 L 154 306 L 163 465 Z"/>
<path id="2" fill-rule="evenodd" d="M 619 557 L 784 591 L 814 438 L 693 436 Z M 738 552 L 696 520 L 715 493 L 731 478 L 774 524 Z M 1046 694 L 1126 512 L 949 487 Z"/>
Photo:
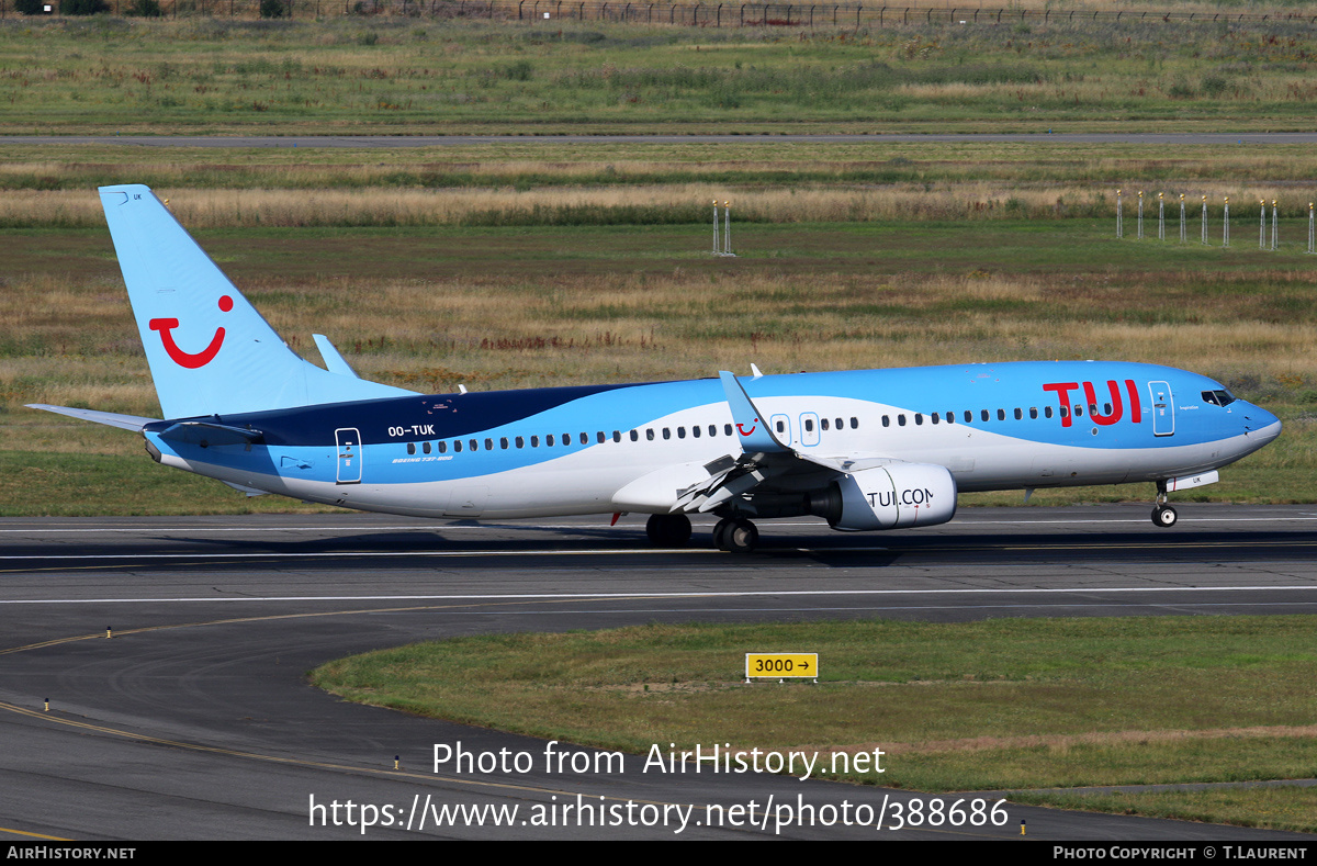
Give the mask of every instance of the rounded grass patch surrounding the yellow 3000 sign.
<path id="1" fill-rule="evenodd" d="M 1303 616 L 648 625 L 381 650 L 312 682 L 636 754 L 881 748 L 885 773 L 849 780 L 923 791 L 1245 782 L 1317 774 L 1314 634 Z M 819 683 L 741 684 L 745 651 L 818 651 Z M 1249 811 L 1250 794 L 1230 796 L 1243 805 L 1212 815 Z M 1266 796 L 1297 805 L 1249 820 L 1317 830 L 1310 792 Z"/>

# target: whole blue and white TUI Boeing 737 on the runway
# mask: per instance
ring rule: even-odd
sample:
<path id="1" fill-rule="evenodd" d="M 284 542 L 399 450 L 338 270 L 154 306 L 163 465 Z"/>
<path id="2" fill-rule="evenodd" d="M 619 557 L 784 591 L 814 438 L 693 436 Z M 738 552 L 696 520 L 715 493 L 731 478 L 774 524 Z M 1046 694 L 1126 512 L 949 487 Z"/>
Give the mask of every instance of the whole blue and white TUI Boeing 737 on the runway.
<path id="1" fill-rule="evenodd" d="M 165 420 L 54 405 L 142 434 L 159 463 L 249 494 L 361 511 L 506 519 L 691 513 L 751 551 L 753 519 L 840 530 L 952 519 L 957 491 L 1155 482 L 1167 494 L 1280 433 L 1205 376 L 1021 362 L 423 395 L 360 379 L 316 334 L 303 361 L 154 193 L 100 190 Z"/>

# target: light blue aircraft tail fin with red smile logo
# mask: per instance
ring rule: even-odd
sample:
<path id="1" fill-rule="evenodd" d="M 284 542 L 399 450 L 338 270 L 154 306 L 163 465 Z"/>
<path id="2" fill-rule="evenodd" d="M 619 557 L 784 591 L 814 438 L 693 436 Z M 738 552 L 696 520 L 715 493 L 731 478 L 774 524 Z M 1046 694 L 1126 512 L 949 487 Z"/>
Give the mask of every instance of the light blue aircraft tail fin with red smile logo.
<path id="1" fill-rule="evenodd" d="M 166 419 L 415 394 L 303 361 L 148 187 L 101 187 Z"/>

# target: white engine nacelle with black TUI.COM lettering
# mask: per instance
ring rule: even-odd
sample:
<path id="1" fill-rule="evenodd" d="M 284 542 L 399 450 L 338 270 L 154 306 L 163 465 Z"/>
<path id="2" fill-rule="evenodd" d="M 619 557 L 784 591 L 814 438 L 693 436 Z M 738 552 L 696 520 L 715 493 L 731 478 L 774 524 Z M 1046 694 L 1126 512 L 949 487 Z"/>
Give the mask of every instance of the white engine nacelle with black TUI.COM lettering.
<path id="1" fill-rule="evenodd" d="M 956 479 L 946 466 L 888 463 L 832 482 L 826 500 L 814 513 L 842 532 L 931 526 L 956 516 Z"/>

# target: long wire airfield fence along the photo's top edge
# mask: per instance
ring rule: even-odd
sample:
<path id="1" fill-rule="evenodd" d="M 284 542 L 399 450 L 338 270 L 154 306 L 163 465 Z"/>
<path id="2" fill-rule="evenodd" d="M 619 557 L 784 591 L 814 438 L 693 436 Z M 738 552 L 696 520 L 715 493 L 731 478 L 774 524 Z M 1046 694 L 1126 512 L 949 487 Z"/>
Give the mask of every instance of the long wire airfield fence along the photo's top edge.
<path id="1" fill-rule="evenodd" d="M 58 11 L 59 0 L 50 0 Z M 138 0 L 107 0 L 111 14 L 132 16 Z M 618 0 L 159 0 L 163 17 L 327 16 L 402 18 L 491 18 L 500 21 L 611 21 L 699 28 L 885 28 L 909 25 L 1047 25 L 1104 21 L 1112 24 L 1250 24 L 1317 25 L 1317 12 L 1137 12 L 1117 9 L 1021 9 L 915 7 L 843 3 L 645 3 Z M 278 11 L 278 14 L 274 14 Z M 263 13 L 263 14 L 262 14 Z M 14 0 L 0 0 L 0 17 L 20 14 Z M 40 17 L 40 16 L 36 16 Z"/>

